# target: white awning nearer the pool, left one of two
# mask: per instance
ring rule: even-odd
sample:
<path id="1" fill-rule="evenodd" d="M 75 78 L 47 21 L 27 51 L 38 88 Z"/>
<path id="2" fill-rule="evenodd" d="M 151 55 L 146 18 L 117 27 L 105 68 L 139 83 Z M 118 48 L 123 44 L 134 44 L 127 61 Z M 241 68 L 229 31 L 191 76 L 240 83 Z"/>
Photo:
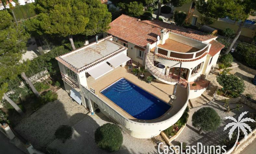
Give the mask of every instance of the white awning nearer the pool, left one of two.
<path id="1" fill-rule="evenodd" d="M 96 67 L 93 67 L 87 73 L 89 73 L 95 80 L 104 74 L 112 71 L 114 68 L 110 67 L 107 63 L 102 63 Z"/>

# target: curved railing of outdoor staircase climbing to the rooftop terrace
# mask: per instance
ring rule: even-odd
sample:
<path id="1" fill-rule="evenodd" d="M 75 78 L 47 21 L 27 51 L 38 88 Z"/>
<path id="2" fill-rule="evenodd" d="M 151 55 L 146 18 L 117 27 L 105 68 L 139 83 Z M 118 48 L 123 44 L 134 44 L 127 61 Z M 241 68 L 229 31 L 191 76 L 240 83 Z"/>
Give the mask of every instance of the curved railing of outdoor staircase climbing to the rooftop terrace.
<path id="1" fill-rule="evenodd" d="M 172 76 L 167 73 L 160 72 L 152 64 L 154 64 L 154 56 L 150 56 L 150 57 L 146 56 L 146 66 L 153 75 L 155 75 L 165 81 L 169 81 L 169 82 L 178 82 L 179 81 L 179 76 Z"/>

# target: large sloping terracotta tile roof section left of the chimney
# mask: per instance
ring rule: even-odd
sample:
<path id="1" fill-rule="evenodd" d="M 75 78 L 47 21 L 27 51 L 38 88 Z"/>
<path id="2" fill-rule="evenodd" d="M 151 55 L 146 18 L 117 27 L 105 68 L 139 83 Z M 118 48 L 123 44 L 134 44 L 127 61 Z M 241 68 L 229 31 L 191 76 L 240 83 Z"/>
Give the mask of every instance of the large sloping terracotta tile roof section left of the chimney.
<path id="1" fill-rule="evenodd" d="M 146 47 L 147 43 L 156 42 L 157 36 L 161 35 L 161 28 L 128 15 L 119 16 L 109 26 L 111 27 L 108 31 L 109 34 L 140 47 Z"/>

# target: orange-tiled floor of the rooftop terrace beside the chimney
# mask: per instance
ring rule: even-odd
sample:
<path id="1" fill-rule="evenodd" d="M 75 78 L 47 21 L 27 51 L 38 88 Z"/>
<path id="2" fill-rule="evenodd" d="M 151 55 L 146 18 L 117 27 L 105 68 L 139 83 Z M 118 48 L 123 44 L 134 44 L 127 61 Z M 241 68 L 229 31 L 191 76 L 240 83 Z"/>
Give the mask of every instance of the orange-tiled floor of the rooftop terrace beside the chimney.
<path id="1" fill-rule="evenodd" d="M 191 52 L 196 52 L 200 50 L 198 48 L 174 41 L 170 38 L 166 39 L 163 45 L 159 44 L 158 46 L 167 50 L 182 52 L 182 53 L 191 53 Z M 154 50 L 155 48 L 151 49 L 151 51 L 154 51 Z"/>

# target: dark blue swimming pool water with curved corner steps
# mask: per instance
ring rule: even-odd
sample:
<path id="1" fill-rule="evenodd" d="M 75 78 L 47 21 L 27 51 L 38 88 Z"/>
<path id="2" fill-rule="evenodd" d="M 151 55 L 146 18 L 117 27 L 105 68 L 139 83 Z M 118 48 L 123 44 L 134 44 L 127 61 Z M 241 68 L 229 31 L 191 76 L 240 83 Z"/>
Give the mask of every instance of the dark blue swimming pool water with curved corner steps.
<path id="1" fill-rule="evenodd" d="M 171 108 L 169 104 L 124 78 L 105 88 L 101 93 L 137 119 L 155 119 Z"/>

